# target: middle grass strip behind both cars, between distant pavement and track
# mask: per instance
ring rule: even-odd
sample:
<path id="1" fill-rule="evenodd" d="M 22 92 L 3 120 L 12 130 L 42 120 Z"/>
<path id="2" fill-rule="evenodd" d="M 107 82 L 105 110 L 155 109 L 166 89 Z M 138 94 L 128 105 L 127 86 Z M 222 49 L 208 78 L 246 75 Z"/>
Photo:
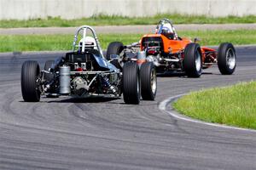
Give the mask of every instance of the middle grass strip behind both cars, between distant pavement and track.
<path id="1" fill-rule="evenodd" d="M 179 31 L 181 37 L 199 37 L 201 45 L 218 45 L 221 42 L 256 44 L 256 30 L 236 31 Z M 124 44 L 138 42 L 142 34 L 99 34 L 102 48 L 109 42 Z M 0 52 L 70 50 L 73 35 L 0 35 Z"/>

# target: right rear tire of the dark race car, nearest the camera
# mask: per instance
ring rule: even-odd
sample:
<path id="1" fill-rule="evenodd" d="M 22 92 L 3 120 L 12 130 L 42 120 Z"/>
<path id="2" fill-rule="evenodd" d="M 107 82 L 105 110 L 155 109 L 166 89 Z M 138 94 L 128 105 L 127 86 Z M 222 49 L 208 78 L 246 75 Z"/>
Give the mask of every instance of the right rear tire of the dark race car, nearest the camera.
<path id="1" fill-rule="evenodd" d="M 141 81 L 137 63 L 125 63 L 122 82 L 125 104 L 138 105 L 141 98 Z"/>

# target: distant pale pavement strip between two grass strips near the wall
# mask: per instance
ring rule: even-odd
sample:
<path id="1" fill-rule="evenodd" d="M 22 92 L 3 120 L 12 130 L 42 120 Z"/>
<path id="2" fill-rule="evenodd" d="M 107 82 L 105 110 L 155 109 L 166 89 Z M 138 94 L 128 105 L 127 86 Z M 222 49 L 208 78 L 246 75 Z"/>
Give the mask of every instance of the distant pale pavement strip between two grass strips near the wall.
<path id="1" fill-rule="evenodd" d="M 175 24 L 175 23 L 174 23 Z M 84 23 L 86 25 L 86 23 Z M 182 24 L 174 25 L 177 31 L 201 30 L 255 30 L 256 24 Z M 155 25 L 149 26 L 92 26 L 97 34 L 104 33 L 151 33 Z M 0 28 L 0 35 L 27 35 L 27 34 L 73 34 L 76 27 L 31 27 L 31 28 Z"/>

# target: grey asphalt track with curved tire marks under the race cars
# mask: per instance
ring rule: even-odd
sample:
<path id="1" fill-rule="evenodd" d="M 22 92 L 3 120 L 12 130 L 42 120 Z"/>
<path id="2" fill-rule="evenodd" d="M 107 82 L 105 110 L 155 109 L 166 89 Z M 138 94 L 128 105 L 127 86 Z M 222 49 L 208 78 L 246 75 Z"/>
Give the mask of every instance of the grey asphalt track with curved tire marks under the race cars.
<path id="1" fill-rule="evenodd" d="M 256 47 L 236 51 L 234 75 L 217 66 L 201 78 L 166 74 L 156 100 L 141 105 L 65 97 L 26 103 L 21 63 L 34 59 L 42 68 L 62 54 L 0 54 L 0 169 L 256 169 L 256 133 L 186 122 L 158 108 L 170 96 L 256 80 Z"/>

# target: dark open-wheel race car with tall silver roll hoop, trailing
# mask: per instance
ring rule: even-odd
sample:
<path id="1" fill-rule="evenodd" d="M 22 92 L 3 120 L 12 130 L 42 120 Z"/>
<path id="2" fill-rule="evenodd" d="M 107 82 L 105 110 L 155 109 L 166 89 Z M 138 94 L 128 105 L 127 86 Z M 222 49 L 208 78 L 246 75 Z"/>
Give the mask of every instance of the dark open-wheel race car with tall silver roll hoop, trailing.
<path id="1" fill-rule="evenodd" d="M 153 63 L 137 65 L 130 61 L 121 68 L 114 63 L 114 56 L 110 60 L 104 58 L 93 28 L 80 26 L 74 36 L 73 51 L 46 61 L 43 71 L 37 61 L 23 63 L 22 97 L 26 102 L 38 102 L 41 95 L 119 98 L 123 94 L 126 104 L 139 104 L 141 97 L 154 100 L 156 73 Z"/>

